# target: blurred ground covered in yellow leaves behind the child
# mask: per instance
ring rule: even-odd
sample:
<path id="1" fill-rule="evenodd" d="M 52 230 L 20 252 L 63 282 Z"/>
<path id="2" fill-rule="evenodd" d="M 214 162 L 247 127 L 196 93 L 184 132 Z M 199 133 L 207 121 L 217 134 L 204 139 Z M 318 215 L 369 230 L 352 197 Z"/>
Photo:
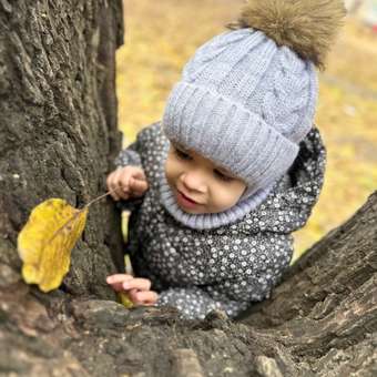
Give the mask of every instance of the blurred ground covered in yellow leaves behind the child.
<path id="1" fill-rule="evenodd" d="M 124 0 L 124 45 L 116 55 L 124 146 L 162 118 L 184 63 L 237 18 L 243 2 Z M 327 146 L 325 184 L 307 225 L 294 233 L 294 259 L 377 187 L 377 0 L 349 0 L 346 7 L 345 27 L 319 75 L 316 123 Z"/>

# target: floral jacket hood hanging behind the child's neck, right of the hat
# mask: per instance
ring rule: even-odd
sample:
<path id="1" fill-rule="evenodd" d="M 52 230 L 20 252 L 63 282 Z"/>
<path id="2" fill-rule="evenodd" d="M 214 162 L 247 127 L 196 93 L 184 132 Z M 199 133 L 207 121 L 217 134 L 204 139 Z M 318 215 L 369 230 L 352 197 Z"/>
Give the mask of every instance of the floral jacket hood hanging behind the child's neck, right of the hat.
<path id="1" fill-rule="evenodd" d="M 298 155 L 267 198 L 247 214 L 237 228 L 243 233 L 291 233 L 302 228 L 324 184 L 326 147 L 316 126 L 299 143 Z"/>

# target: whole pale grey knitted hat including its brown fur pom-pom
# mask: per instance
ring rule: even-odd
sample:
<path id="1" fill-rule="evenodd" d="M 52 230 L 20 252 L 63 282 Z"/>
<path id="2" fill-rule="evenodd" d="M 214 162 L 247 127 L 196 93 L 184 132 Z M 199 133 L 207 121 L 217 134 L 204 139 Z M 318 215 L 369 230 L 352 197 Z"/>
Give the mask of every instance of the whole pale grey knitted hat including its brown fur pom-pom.
<path id="1" fill-rule="evenodd" d="M 184 67 L 165 106 L 166 136 L 243 179 L 240 201 L 264 198 L 312 128 L 315 65 L 344 14 L 339 0 L 247 1 L 233 30 Z"/>

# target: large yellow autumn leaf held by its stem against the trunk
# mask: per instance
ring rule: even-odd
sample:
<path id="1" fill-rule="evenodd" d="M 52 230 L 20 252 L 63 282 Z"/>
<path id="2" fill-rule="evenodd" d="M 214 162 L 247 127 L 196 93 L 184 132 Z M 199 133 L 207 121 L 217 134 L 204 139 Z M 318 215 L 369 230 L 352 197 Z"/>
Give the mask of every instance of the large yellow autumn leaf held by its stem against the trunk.
<path id="1" fill-rule="evenodd" d="M 88 206 L 77 210 L 61 198 L 50 198 L 33 208 L 18 236 L 22 276 L 28 284 L 38 284 L 43 292 L 59 287 L 86 215 Z"/>

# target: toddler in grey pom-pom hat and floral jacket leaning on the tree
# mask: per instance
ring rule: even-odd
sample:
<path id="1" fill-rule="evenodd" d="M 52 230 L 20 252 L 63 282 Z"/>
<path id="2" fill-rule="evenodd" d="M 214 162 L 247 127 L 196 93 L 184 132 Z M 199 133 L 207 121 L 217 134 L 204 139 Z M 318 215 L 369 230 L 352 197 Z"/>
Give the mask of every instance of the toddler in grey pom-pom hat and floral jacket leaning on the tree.
<path id="1" fill-rule="evenodd" d="M 344 13 L 339 0 L 248 1 L 195 52 L 108 176 L 131 211 L 135 273 L 109 276 L 115 291 L 185 318 L 269 297 L 323 186 L 315 65 Z"/>

